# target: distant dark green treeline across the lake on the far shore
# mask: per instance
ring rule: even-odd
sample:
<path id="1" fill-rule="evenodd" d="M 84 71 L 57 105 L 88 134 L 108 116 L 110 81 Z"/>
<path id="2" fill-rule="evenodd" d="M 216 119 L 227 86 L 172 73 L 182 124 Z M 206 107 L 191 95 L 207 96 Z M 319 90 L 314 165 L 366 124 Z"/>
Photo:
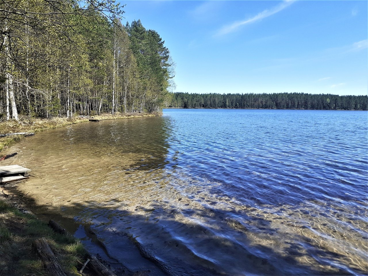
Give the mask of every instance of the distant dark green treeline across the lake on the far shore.
<path id="1" fill-rule="evenodd" d="M 166 107 L 177 108 L 267 108 L 267 109 L 335 109 L 367 110 L 368 96 L 332 94 L 198 94 L 171 93 Z"/>

